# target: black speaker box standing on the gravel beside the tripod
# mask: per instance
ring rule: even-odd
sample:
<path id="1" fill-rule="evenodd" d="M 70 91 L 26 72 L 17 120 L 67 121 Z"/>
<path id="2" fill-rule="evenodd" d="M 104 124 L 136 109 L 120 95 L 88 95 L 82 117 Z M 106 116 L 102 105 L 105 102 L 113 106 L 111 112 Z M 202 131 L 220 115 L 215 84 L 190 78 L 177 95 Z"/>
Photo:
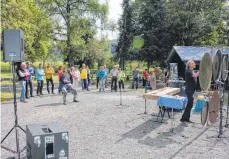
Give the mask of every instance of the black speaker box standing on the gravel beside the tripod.
<path id="1" fill-rule="evenodd" d="M 68 131 L 58 123 L 26 126 L 28 159 L 69 159 Z"/>

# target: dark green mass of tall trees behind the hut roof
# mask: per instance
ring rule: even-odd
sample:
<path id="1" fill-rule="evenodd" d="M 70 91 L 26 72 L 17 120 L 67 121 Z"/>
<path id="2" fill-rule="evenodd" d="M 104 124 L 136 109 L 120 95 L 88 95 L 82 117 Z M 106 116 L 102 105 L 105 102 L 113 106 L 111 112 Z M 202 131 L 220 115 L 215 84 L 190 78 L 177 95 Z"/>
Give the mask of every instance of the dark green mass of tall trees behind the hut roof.
<path id="1" fill-rule="evenodd" d="M 163 62 L 174 45 L 217 46 L 228 34 L 226 4 L 222 0 L 135 0 L 125 5 L 120 19 L 123 22 L 127 16 L 128 23 L 119 23 L 117 56 L 124 51 L 132 60 Z M 145 44 L 137 50 L 132 47 L 133 37 L 140 35 Z"/>

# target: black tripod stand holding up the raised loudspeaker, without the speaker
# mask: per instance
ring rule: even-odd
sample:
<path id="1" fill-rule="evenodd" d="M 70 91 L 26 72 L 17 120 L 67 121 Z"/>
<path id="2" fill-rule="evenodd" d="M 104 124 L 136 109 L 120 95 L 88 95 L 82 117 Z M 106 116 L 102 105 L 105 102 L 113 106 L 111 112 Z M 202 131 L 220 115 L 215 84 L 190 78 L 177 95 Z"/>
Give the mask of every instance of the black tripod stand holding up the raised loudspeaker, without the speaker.
<path id="1" fill-rule="evenodd" d="M 7 133 L 7 135 L 2 139 L 1 144 L 5 141 L 5 139 L 9 136 L 9 134 L 15 129 L 16 133 L 16 151 L 11 150 L 10 148 L 7 148 L 3 145 L 1 147 L 7 151 L 10 151 L 12 153 L 16 153 L 18 156 L 18 159 L 20 159 L 20 153 L 23 152 L 26 149 L 26 146 L 22 149 L 19 150 L 19 138 L 18 138 L 18 128 L 21 129 L 23 132 L 26 133 L 26 131 L 18 125 L 18 117 L 17 117 L 17 99 L 16 99 L 16 83 L 15 83 L 15 62 L 12 62 L 12 68 L 13 68 L 13 93 L 14 93 L 14 117 L 15 117 L 15 125 L 12 127 L 12 129 Z"/>

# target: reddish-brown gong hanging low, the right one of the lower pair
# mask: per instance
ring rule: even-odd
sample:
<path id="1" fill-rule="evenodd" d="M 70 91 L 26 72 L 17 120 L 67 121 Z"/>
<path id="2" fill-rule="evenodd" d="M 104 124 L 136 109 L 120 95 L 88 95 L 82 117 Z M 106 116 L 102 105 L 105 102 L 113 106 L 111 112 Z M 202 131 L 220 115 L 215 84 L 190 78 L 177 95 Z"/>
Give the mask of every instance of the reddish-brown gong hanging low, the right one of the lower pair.
<path id="1" fill-rule="evenodd" d="M 209 100 L 209 121 L 214 124 L 218 117 L 220 107 L 220 97 L 218 91 L 214 91 Z"/>

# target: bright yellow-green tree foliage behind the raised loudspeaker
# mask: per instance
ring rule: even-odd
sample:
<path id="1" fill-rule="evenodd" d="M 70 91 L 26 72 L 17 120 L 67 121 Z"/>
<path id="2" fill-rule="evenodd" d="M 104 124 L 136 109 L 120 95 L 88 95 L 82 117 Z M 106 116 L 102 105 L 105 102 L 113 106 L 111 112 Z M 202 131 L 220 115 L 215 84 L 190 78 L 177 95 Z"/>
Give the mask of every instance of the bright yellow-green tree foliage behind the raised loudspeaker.
<path id="1" fill-rule="evenodd" d="M 45 60 L 52 43 L 52 25 L 33 0 L 2 0 L 2 29 L 24 32 L 26 60 Z"/>

